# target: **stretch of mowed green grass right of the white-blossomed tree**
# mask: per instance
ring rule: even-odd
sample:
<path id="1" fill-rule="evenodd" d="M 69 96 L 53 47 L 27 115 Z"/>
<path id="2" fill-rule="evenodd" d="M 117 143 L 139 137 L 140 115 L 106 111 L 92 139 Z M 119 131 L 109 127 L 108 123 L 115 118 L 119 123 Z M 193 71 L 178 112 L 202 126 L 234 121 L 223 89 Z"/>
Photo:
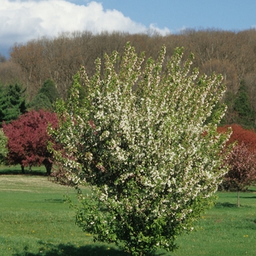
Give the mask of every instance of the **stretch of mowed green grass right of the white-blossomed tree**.
<path id="1" fill-rule="evenodd" d="M 256 255 L 256 187 L 241 192 L 217 192 L 217 205 L 195 225 L 195 232 L 177 239 L 173 255 Z"/>

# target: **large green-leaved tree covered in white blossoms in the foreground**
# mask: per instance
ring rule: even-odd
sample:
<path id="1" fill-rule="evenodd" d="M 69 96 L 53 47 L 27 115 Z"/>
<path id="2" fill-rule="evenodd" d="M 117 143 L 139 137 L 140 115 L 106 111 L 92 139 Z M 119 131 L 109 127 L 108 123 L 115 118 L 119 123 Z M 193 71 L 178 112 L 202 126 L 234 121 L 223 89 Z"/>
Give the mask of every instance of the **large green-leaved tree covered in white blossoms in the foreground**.
<path id="1" fill-rule="evenodd" d="M 227 172 L 220 166 L 228 135 L 217 132 L 225 107 L 212 113 L 222 78 L 198 77 L 193 56 L 181 64 L 182 55 L 177 48 L 166 61 L 163 47 L 143 66 L 144 53 L 127 43 L 121 60 L 105 55 L 105 75 L 97 59 L 95 75 L 81 69 L 68 101 L 56 102 L 59 129 L 50 133 L 64 153 L 52 151 L 59 175 L 77 189 L 76 223 L 131 255 L 176 249 L 176 236 L 212 205 Z"/>

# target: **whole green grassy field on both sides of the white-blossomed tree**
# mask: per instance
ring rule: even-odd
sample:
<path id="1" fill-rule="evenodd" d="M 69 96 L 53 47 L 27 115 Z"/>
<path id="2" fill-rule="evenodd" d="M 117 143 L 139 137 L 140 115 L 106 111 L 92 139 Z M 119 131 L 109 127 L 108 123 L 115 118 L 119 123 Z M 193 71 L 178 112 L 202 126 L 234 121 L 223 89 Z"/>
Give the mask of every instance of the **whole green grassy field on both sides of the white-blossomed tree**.
<path id="1" fill-rule="evenodd" d="M 75 226 L 64 195 L 72 191 L 48 181 L 43 167 L 27 175 L 0 168 L 0 255 L 127 255 L 108 244 L 94 244 Z M 36 176 L 31 174 L 37 174 Z M 158 255 L 255 255 L 256 187 L 241 193 L 218 192 L 217 205 L 195 225 L 195 232 L 178 238 L 180 248 Z"/>

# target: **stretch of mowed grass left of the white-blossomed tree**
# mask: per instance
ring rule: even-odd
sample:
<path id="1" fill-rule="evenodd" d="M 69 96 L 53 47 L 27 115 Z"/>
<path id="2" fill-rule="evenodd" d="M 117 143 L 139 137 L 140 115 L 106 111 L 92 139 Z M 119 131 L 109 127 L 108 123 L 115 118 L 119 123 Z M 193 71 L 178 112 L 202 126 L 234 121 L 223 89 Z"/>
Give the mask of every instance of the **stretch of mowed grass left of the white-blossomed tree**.
<path id="1" fill-rule="evenodd" d="M 74 212 L 64 202 L 67 192 L 75 195 L 72 189 L 31 173 L 0 175 L 1 256 L 120 255 L 114 246 L 94 244 L 75 225 Z"/>

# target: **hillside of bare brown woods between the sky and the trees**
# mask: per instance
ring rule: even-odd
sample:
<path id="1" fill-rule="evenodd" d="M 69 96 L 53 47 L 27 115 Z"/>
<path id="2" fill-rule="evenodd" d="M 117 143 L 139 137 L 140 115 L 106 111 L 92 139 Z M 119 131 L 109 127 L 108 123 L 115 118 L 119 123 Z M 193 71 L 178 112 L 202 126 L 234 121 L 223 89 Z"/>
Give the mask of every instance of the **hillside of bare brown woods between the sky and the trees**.
<path id="1" fill-rule="evenodd" d="M 17 81 L 26 88 L 27 101 L 37 95 L 47 79 L 53 80 L 59 95 L 67 97 L 72 75 L 80 66 L 86 67 L 89 76 L 94 74 L 95 59 L 117 50 L 124 52 L 126 42 L 138 52 L 157 58 L 162 45 L 167 48 L 167 59 L 176 47 L 184 47 L 187 59 L 195 54 L 195 67 L 210 75 L 222 73 L 227 86 L 225 98 L 228 110 L 225 123 L 238 123 L 256 127 L 256 30 L 219 31 L 186 30 L 165 37 L 159 34 L 127 34 L 121 32 L 75 31 L 58 37 L 42 37 L 23 45 L 14 45 L 10 59 L 0 61 L 0 83 Z"/>

